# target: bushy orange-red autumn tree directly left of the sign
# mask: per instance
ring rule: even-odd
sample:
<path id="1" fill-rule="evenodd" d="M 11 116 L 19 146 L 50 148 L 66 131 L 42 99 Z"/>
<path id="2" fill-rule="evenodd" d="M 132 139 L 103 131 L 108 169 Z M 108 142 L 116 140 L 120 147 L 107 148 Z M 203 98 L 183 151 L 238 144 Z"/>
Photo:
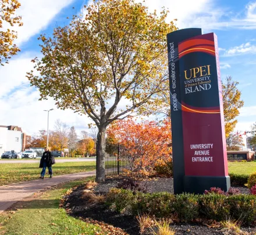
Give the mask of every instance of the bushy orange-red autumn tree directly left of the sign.
<path id="1" fill-rule="evenodd" d="M 115 121 L 109 126 L 107 135 L 109 143 L 120 144 L 120 156 L 127 157 L 130 171 L 135 172 L 136 176 L 149 175 L 157 164 L 171 160 L 172 135 L 169 119 L 162 123 L 136 123 L 131 119 Z"/>

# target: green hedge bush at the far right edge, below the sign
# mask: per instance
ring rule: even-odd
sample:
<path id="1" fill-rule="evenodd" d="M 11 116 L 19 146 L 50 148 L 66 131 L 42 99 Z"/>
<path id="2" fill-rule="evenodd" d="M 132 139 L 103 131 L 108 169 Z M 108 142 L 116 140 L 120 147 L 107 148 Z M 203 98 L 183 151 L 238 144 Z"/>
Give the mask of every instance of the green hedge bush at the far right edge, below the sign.
<path id="1" fill-rule="evenodd" d="M 253 195 L 234 195 L 227 198 L 230 205 L 230 216 L 251 224 L 256 220 L 256 197 Z"/>

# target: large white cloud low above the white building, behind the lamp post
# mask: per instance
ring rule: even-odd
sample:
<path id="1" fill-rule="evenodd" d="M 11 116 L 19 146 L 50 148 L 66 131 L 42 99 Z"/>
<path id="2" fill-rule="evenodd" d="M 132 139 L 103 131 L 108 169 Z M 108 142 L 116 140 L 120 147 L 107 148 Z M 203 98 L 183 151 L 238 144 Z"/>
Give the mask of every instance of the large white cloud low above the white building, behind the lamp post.
<path id="1" fill-rule="evenodd" d="M 47 112 L 49 113 L 49 129 L 54 129 L 54 122 L 60 119 L 77 131 L 88 129 L 91 122 L 86 115 L 79 115 L 72 110 L 58 110 L 52 98 L 39 101 L 40 94 L 32 87 L 24 86 L 12 95 L 0 99 L 0 125 L 18 125 L 24 132 L 32 135 L 41 129 L 47 129 Z"/>

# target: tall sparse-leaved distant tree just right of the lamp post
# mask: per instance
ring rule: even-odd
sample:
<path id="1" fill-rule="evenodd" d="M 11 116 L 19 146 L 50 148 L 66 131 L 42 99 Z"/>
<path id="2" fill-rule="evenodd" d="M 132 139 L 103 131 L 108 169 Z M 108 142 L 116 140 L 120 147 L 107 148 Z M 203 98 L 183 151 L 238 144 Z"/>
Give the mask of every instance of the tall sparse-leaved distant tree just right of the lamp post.
<path id="1" fill-rule="evenodd" d="M 65 122 L 62 122 L 61 120 L 56 120 L 55 121 L 55 140 L 56 140 L 56 145 L 59 146 L 59 149 L 62 152 L 62 149 L 67 147 L 68 143 L 68 134 L 69 134 L 69 126 Z"/>

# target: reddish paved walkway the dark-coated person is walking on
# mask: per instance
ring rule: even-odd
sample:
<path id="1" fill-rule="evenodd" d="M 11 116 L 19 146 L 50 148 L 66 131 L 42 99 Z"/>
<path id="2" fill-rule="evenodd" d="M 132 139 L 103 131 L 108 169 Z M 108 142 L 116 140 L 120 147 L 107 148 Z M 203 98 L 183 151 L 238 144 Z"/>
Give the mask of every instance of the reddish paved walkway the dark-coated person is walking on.
<path id="1" fill-rule="evenodd" d="M 0 214 L 8 209 L 12 204 L 29 197 L 38 191 L 49 187 L 59 185 L 60 183 L 69 182 L 71 180 L 81 179 L 88 176 L 94 176 L 95 171 L 74 173 L 70 175 L 54 176 L 52 179 L 44 178 L 30 180 L 27 182 L 16 183 L 0 187 Z"/>

